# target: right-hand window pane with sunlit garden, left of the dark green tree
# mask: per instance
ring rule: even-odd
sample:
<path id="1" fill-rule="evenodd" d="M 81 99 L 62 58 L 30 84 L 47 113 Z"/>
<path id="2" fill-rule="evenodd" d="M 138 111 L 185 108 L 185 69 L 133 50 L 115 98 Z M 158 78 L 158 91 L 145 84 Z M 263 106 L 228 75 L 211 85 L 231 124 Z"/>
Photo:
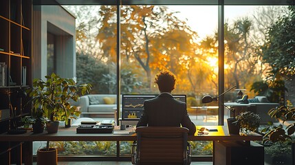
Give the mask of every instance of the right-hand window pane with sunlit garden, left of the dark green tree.
<path id="1" fill-rule="evenodd" d="M 273 73 L 277 69 L 275 61 L 283 61 L 284 57 L 267 57 L 270 56 L 267 49 L 271 48 L 267 45 L 274 44 L 269 41 L 270 37 L 277 37 L 269 36 L 269 30 L 286 11 L 287 6 L 225 6 L 225 87 L 237 85 L 237 89 L 226 94 L 225 101 L 228 105 L 232 105 L 230 102 L 252 105 L 235 106 L 235 115 L 253 111 L 261 115 L 261 124 L 266 124 L 272 120 L 267 111 L 278 106 L 281 99 L 282 104 L 289 99 L 285 98 L 285 90 L 280 87 L 291 79 Z M 261 102 L 276 104 L 263 103 L 268 107 L 257 107 L 256 103 Z"/>

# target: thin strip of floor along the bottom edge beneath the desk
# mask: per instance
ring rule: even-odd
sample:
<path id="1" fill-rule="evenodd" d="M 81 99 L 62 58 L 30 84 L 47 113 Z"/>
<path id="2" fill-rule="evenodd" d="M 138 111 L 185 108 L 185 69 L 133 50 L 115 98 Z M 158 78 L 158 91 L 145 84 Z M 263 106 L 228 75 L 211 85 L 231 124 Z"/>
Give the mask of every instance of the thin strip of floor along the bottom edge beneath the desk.
<path id="1" fill-rule="evenodd" d="M 192 162 L 191 165 L 211 165 L 212 162 Z M 36 165 L 36 163 L 34 163 Z M 132 165 L 131 162 L 58 162 L 58 165 Z"/>

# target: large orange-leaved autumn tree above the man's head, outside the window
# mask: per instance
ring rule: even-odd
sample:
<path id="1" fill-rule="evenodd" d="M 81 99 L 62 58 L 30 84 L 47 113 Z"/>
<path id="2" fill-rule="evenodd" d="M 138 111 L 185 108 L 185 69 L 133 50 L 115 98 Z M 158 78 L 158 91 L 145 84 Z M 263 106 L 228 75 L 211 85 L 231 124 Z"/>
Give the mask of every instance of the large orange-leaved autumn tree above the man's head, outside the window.
<path id="1" fill-rule="evenodd" d="M 102 9 L 109 12 L 100 12 L 102 27 L 98 38 L 102 50 L 116 48 L 110 45 L 116 29 L 111 29 L 113 32 L 107 31 L 113 26 L 113 20 L 110 19 L 113 16 L 110 13 L 115 13 L 111 8 L 113 6 L 105 6 Z M 122 61 L 128 65 L 134 65 L 133 61 L 138 62 L 138 68 L 146 72 L 147 88 L 151 88 L 152 69 L 170 69 L 177 74 L 184 72 L 179 66 L 179 57 L 190 52 L 195 34 L 184 21 L 175 17 L 175 13 L 167 8 L 153 5 L 124 5 L 121 14 Z"/>

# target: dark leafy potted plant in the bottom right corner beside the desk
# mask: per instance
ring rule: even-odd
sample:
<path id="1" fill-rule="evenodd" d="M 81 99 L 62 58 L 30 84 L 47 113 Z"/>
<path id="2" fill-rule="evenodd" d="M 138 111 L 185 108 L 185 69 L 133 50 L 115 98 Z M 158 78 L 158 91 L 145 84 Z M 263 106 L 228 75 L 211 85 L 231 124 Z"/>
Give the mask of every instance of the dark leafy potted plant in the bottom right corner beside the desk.
<path id="1" fill-rule="evenodd" d="M 268 126 L 261 130 L 265 154 L 266 157 L 270 157 L 270 159 L 265 160 L 270 163 L 279 162 L 281 164 L 292 162 L 292 155 L 294 154 L 292 148 L 295 146 L 292 138 L 295 132 L 295 108 L 288 106 L 273 108 L 268 111 L 268 115 L 279 120 L 281 124 L 274 125 L 273 122 L 268 122 Z M 287 121 L 292 123 L 285 126 Z"/>

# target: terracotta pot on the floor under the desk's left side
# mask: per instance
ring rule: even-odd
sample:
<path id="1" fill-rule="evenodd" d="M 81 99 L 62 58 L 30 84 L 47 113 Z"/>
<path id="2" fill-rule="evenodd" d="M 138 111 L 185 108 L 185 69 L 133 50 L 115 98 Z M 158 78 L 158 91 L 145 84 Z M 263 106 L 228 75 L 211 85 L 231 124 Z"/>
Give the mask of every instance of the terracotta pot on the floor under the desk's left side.
<path id="1" fill-rule="evenodd" d="M 57 165 L 57 149 L 49 148 L 49 151 L 46 148 L 39 149 L 37 151 L 37 164 Z"/>

